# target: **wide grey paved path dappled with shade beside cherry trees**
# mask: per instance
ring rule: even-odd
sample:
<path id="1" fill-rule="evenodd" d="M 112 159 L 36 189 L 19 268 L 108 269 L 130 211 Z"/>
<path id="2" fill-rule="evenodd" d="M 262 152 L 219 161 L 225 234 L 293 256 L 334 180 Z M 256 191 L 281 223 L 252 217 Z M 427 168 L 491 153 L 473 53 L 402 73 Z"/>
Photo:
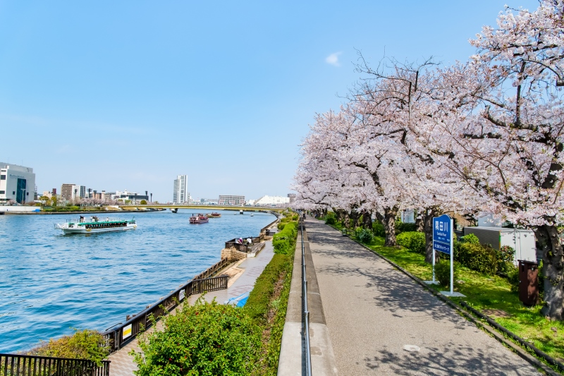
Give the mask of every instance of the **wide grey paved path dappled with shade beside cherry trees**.
<path id="1" fill-rule="evenodd" d="M 388 262 L 317 219 L 306 224 L 341 375 L 539 375 Z"/>

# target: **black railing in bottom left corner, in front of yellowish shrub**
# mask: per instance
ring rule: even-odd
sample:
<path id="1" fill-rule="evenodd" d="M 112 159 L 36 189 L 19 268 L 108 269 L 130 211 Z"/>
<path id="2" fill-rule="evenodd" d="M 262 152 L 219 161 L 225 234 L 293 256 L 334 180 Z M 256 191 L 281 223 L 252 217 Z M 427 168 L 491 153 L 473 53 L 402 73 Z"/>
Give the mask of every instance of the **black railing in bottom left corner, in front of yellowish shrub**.
<path id="1" fill-rule="evenodd" d="M 1 376 L 109 376 L 110 361 L 0 353 Z"/>

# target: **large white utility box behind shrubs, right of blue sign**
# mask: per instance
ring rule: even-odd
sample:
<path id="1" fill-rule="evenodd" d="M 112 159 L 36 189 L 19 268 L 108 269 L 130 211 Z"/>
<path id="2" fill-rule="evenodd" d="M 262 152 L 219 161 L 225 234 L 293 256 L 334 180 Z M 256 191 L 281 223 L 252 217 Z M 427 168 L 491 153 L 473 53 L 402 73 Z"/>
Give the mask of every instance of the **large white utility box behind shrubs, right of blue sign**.
<path id="1" fill-rule="evenodd" d="M 503 245 L 509 245 L 515 250 L 515 266 L 518 265 L 518 260 L 537 262 L 537 242 L 532 230 L 478 226 L 465 227 L 464 234 L 474 234 L 480 244 L 489 244 L 496 250 L 500 250 Z"/>

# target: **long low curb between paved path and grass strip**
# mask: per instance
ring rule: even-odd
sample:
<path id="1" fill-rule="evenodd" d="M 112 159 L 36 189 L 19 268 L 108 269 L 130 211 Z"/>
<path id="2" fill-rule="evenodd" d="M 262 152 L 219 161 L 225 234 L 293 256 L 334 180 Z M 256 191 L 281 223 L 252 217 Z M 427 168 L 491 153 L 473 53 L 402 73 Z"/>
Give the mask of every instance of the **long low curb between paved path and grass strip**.
<path id="1" fill-rule="evenodd" d="M 333 226 L 327 225 L 329 227 L 331 227 L 331 229 L 334 229 L 335 231 L 339 231 L 338 229 L 334 228 Z M 340 232 L 340 231 L 339 231 Z M 425 290 L 429 291 L 431 294 L 433 294 L 436 298 L 439 298 L 439 300 L 443 301 L 443 303 L 446 303 L 447 305 L 450 306 L 450 308 L 455 309 L 458 313 L 460 313 L 460 315 L 462 315 L 462 317 L 465 317 L 466 320 L 474 323 L 474 325 L 476 325 L 477 327 L 481 327 L 485 332 L 487 332 L 488 334 L 491 334 L 491 336 L 494 336 L 495 339 L 497 339 L 499 342 L 501 342 L 502 344 L 504 344 L 505 346 L 509 347 L 510 349 L 512 349 L 513 351 L 515 351 L 515 353 L 517 353 L 518 356 L 520 356 L 522 359 L 527 360 L 527 362 L 529 362 L 530 364 L 534 365 L 537 368 L 540 368 L 541 370 L 543 370 L 546 375 L 551 375 L 551 376 L 561 376 L 562 374 L 559 372 L 556 372 L 555 370 L 553 370 L 552 368 L 549 368 L 546 364 L 542 363 L 540 360 L 538 360 L 537 358 L 535 358 L 534 356 L 532 356 L 530 353 L 528 353 L 524 348 L 522 348 L 522 346 L 517 346 L 516 344 L 514 344 L 512 341 L 509 341 L 508 339 L 506 339 L 503 334 L 500 334 L 499 332 L 496 331 L 496 329 L 494 329 L 493 327 L 491 327 L 490 325 L 487 325 L 484 322 L 481 322 L 479 320 L 476 320 L 472 315 L 470 315 L 469 313 L 467 313 L 466 310 L 462 309 L 462 307 L 460 305 L 458 305 L 457 303 L 451 301 L 450 299 L 442 296 L 439 292 L 431 289 L 429 286 L 427 286 L 427 284 L 425 284 L 421 279 L 419 279 L 418 277 L 415 277 L 413 274 L 411 274 L 410 272 L 407 272 L 407 270 L 403 269 L 403 267 L 400 267 L 399 265 L 397 265 L 395 262 L 388 260 L 386 257 L 384 257 L 383 255 L 380 255 L 379 253 L 377 253 L 375 250 L 372 250 L 371 248 L 368 248 L 366 245 L 359 243 L 358 241 L 356 241 L 355 239 L 351 238 L 350 236 L 347 236 L 348 238 L 350 238 L 350 240 L 354 241 L 355 243 L 357 243 L 358 245 L 362 245 L 363 248 L 366 248 L 367 250 L 369 250 L 369 252 L 374 253 L 374 255 L 380 257 L 382 260 L 388 262 L 390 265 L 392 265 L 394 268 L 398 269 L 400 272 L 402 272 L 403 274 L 405 274 L 407 277 L 410 277 L 410 279 L 412 279 L 413 281 L 415 281 L 417 284 L 419 284 L 419 286 L 422 286 Z M 463 302 L 465 303 L 465 302 Z M 480 316 L 484 316 L 482 313 L 479 313 L 479 311 L 474 310 L 474 308 L 470 307 L 470 305 L 467 305 L 466 303 L 464 304 L 467 308 L 469 308 L 472 313 Z M 502 330 L 503 332 L 505 332 L 505 334 L 508 334 L 508 336 L 511 336 L 515 341 L 519 342 L 520 344 L 524 343 L 526 346 L 528 346 L 529 348 L 532 349 L 532 351 L 534 351 L 535 353 L 537 353 L 538 356 L 540 356 L 541 358 L 544 358 L 546 361 L 548 361 L 548 363 L 552 363 L 553 365 L 555 365 L 556 367 L 564 370 L 564 365 L 562 363 L 559 363 L 557 360 L 551 358 L 550 356 L 548 356 L 548 354 L 542 352 L 541 350 L 539 350 L 538 348 L 532 346 L 532 344 L 528 344 L 527 342 L 523 341 L 519 336 L 517 336 L 516 334 L 513 334 L 512 332 L 508 331 L 508 329 L 505 329 L 504 327 L 502 327 L 501 325 L 497 324 L 497 322 L 495 322 L 494 320 L 491 320 L 491 318 L 486 317 L 484 320 L 488 321 L 488 322 L 494 322 L 496 327 L 499 327 L 498 329 Z M 484 318 L 482 317 L 482 318 Z M 503 328 L 503 329 L 501 329 Z M 537 352 L 538 351 L 538 352 Z M 544 355 L 541 355 L 544 354 Z M 548 357 L 549 359 L 547 359 L 546 357 Z M 551 361 L 552 360 L 552 361 Z"/>

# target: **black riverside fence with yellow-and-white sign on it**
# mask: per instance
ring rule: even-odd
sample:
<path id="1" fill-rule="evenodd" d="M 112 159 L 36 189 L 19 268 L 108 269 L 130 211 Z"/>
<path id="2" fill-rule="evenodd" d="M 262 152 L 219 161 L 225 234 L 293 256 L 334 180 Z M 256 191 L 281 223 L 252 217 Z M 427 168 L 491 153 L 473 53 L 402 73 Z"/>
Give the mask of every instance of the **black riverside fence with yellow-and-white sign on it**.
<path id="1" fill-rule="evenodd" d="M 212 274 L 213 271 L 221 269 L 223 266 L 230 264 L 226 259 L 216 263 L 216 265 L 208 268 L 205 272 L 198 274 L 196 277 L 205 274 Z M 170 312 L 179 303 L 188 298 L 188 296 L 195 293 L 203 293 L 204 291 L 216 291 L 227 289 L 228 276 L 221 275 L 219 277 L 192 279 L 187 284 L 180 287 L 180 289 L 171 292 L 166 298 L 148 306 L 147 309 L 142 310 L 137 315 L 129 318 L 125 324 L 119 324 L 112 327 L 111 330 L 105 332 L 104 338 L 106 344 L 110 347 L 110 352 L 118 351 L 125 343 L 135 338 L 137 334 L 142 332 L 142 329 L 148 329 L 152 326 L 152 318 L 155 321 Z M 0 373 L 1 376 L 1 373 Z"/>

